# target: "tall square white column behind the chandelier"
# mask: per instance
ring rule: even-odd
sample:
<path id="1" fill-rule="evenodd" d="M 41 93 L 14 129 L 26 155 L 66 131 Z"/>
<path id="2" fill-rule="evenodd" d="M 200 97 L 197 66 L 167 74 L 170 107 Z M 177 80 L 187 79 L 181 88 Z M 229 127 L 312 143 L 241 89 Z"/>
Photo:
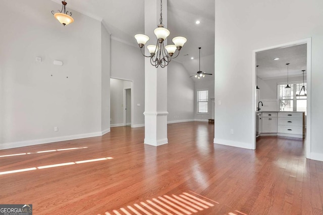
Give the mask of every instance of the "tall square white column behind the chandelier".
<path id="1" fill-rule="evenodd" d="M 156 45 L 153 30 L 159 24 L 160 1 L 145 0 L 145 34 L 149 41 L 145 45 Z M 163 1 L 163 24 L 167 28 L 167 0 Z M 167 44 L 167 41 L 164 41 Z M 167 138 L 167 66 L 155 68 L 150 58 L 145 58 L 145 139 L 144 144 L 159 146 L 168 143 Z"/>

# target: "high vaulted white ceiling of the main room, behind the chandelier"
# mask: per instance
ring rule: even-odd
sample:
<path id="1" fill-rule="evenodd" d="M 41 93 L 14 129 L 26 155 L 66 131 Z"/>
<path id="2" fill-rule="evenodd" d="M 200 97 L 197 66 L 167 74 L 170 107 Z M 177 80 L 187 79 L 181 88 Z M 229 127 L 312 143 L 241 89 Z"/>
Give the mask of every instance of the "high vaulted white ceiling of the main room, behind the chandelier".
<path id="1" fill-rule="evenodd" d="M 62 0 L 52 1 L 62 5 Z M 75 10 L 102 21 L 113 38 L 138 47 L 134 35 L 144 33 L 144 0 L 66 0 L 66 2 L 68 10 Z M 214 58 L 214 11 L 214 0 L 168 0 L 166 27 L 171 32 L 170 38 L 176 36 L 187 38 L 180 55 L 174 60 L 183 63 L 188 70 L 188 76 L 198 71 L 196 60 L 198 47 L 202 47 L 201 70 L 214 73 L 214 59 L 204 60 L 202 64 L 202 57 L 212 55 Z M 196 20 L 199 20 L 200 24 L 195 24 Z M 171 40 L 168 42 L 172 43 Z M 194 60 L 191 60 L 191 57 L 194 57 Z"/>

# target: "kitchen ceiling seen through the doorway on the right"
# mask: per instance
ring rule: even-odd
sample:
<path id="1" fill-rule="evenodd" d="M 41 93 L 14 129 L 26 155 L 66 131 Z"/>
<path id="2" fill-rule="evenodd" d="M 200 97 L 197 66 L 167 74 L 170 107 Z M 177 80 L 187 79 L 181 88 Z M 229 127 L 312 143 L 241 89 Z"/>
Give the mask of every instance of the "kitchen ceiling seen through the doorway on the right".
<path id="1" fill-rule="evenodd" d="M 279 60 L 274 58 L 279 57 Z M 306 70 L 306 44 L 275 48 L 256 53 L 257 77 L 262 80 L 302 76 Z M 306 71 L 305 71 L 306 73 Z"/>

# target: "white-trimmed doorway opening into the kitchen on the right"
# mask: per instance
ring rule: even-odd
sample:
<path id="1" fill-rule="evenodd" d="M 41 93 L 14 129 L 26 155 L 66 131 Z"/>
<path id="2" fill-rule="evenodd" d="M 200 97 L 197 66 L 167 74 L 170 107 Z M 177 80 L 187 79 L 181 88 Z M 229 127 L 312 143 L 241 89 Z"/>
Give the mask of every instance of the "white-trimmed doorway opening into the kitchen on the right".
<path id="1" fill-rule="evenodd" d="M 289 64 L 287 65 L 287 63 Z M 303 85 L 302 70 L 305 70 L 306 97 L 296 96 Z M 277 122 L 280 119 L 277 118 L 278 115 L 282 116 L 284 111 L 305 111 L 306 118 L 303 120 L 306 122 L 304 123 L 306 127 L 305 149 L 306 158 L 309 158 L 311 38 L 253 51 L 253 77 L 252 123 L 254 123 L 254 132 L 252 132 L 252 139 L 254 139 L 254 149 L 256 149 L 256 137 L 264 132 L 263 128 L 266 131 L 265 135 L 277 135 L 282 132 L 284 126 L 280 124 L 283 123 L 282 121 Z M 287 84 L 292 86 L 292 89 L 286 89 Z M 289 94 L 286 94 L 285 91 L 288 91 Z M 271 111 L 273 113 L 270 113 Z M 266 114 L 272 115 L 263 118 Z M 262 120 L 260 120 L 261 117 Z M 265 121 L 264 124 L 263 119 L 267 120 L 267 118 L 272 120 Z M 304 126 L 300 126 L 304 128 Z M 292 137 L 296 136 L 296 134 L 293 136 L 294 130 L 286 132 L 289 132 L 288 135 Z M 285 134 L 283 133 L 283 135 Z"/>

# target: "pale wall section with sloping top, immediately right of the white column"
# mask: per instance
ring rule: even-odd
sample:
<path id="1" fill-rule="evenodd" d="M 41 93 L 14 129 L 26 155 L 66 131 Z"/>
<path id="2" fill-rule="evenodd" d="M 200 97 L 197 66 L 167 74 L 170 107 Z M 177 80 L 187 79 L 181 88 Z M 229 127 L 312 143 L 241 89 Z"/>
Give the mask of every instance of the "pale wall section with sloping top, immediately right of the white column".
<path id="1" fill-rule="evenodd" d="M 176 61 L 168 65 L 168 123 L 194 120 L 194 82 L 185 67 Z"/>

